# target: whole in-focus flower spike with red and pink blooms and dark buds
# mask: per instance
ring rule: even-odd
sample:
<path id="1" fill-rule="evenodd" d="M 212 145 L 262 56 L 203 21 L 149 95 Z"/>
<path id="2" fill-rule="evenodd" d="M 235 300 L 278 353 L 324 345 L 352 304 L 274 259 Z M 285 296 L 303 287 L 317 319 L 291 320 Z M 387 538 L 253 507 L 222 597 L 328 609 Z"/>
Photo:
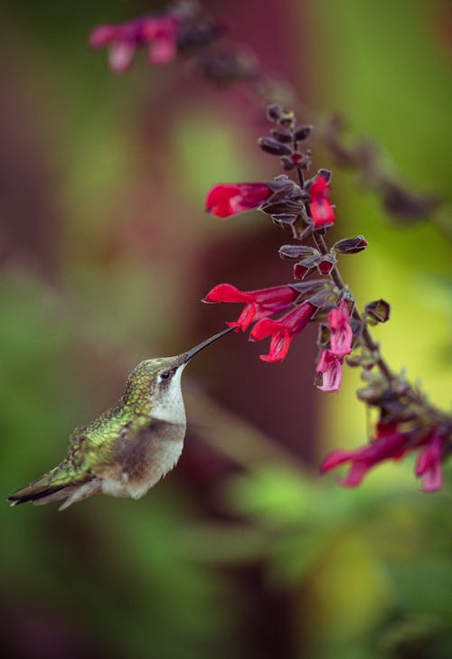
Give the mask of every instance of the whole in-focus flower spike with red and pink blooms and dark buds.
<path id="1" fill-rule="evenodd" d="M 372 466 L 418 451 L 415 473 L 422 479 L 422 489 L 437 490 L 442 485 L 441 462 L 450 451 L 452 420 L 429 406 L 419 391 L 402 376 L 394 375 L 383 361 L 369 325 L 389 320 L 389 304 L 381 299 L 370 302 L 360 314 L 344 285 L 337 268 L 338 256 L 363 251 L 367 240 L 360 235 L 339 240 L 330 249 L 326 245 L 325 234 L 336 221 L 330 200 L 331 173 L 321 169 L 313 178 L 305 179 L 311 154 L 301 145 L 311 127 L 297 126 L 293 113 L 276 106 L 268 108 L 268 118 L 277 127 L 271 130 L 271 137 L 259 138 L 259 146 L 278 155 L 285 170 L 295 169 L 297 183 L 284 174 L 267 182 L 218 184 L 207 195 L 206 210 L 226 218 L 259 209 L 275 224 L 292 231 L 297 243 L 282 245 L 279 256 L 295 261 L 296 281 L 254 291 L 220 284 L 204 302 L 244 304 L 238 320 L 228 325 L 245 332 L 254 323 L 251 341 L 269 337 L 269 351 L 260 355 L 266 362 L 283 361 L 291 341 L 309 322 L 317 322 L 320 353 L 315 371 L 320 391 L 339 390 L 344 362 L 363 369 L 366 386 L 357 394 L 379 412 L 374 438 L 353 451 L 334 451 L 325 459 L 323 472 L 349 463 L 349 472 L 340 483 L 355 487 Z M 314 244 L 306 244 L 308 239 Z M 271 317 L 278 314 L 278 318 Z"/>

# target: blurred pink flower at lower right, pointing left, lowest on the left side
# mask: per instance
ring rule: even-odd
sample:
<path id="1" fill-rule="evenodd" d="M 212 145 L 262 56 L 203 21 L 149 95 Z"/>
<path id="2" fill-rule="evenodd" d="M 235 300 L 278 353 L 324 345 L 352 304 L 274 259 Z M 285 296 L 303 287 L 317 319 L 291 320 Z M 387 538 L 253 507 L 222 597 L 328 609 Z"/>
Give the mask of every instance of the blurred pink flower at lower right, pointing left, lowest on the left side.
<path id="1" fill-rule="evenodd" d="M 400 433 L 394 423 L 382 423 L 377 426 L 377 437 L 370 444 L 353 451 L 334 451 L 325 458 L 322 472 L 330 471 L 336 466 L 350 462 L 348 474 L 340 482 L 345 487 L 356 487 L 363 482 L 364 476 L 383 460 L 397 460 L 408 450 L 410 436 Z"/>

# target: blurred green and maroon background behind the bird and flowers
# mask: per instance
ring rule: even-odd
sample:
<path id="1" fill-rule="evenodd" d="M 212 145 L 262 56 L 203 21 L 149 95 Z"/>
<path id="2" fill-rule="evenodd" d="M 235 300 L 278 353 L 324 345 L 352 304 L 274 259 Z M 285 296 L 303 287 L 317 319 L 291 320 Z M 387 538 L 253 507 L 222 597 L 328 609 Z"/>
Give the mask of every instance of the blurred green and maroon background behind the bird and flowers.
<path id="1" fill-rule="evenodd" d="M 447 2 L 205 5 L 306 105 L 372 136 L 392 174 L 447 196 Z M 156 6 L 0 9 L 4 498 L 61 459 L 71 429 L 116 400 L 138 361 L 233 317 L 199 303 L 210 287 L 289 280 L 276 258 L 287 236 L 263 216 L 203 212 L 212 184 L 278 174 L 255 147 L 267 128 L 246 90 L 144 57 L 115 77 L 86 47 L 96 24 Z M 322 151 L 314 164 L 331 166 Z M 346 280 L 361 305 L 393 306 L 376 333 L 384 353 L 450 406 L 450 242 L 428 221 L 391 223 L 355 174 L 334 169 L 333 189 L 335 235 L 370 243 L 344 257 Z M 452 655 L 450 478 L 421 494 L 413 459 L 357 491 L 320 478 L 325 452 L 366 440 L 357 374 L 337 396 L 315 391 L 314 332 L 283 364 L 261 352 L 234 335 L 193 363 L 184 456 L 145 499 L 95 497 L 61 514 L 0 506 L 5 656 Z"/>

